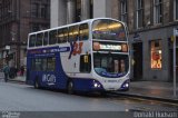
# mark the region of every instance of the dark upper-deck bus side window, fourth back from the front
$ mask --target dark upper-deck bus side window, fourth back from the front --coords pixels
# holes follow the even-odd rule
[[[51,30],[51,31],[49,32],[49,45],[55,45],[55,43],[57,43],[57,39],[58,39],[57,30]]]

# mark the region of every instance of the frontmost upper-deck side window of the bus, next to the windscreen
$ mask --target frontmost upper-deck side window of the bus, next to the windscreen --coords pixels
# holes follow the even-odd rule
[[[79,30],[80,30],[80,31],[79,31],[79,32],[80,32],[80,38],[79,38],[79,40],[88,40],[88,38],[89,38],[88,23],[80,24]]]

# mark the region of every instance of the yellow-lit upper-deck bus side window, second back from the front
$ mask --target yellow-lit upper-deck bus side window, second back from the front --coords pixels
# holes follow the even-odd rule
[[[79,27],[69,27],[69,42],[77,41],[79,39]]]

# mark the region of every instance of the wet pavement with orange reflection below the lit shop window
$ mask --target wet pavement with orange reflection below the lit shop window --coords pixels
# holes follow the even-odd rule
[[[161,81],[131,81],[129,91],[118,91],[117,94],[129,97],[177,102],[178,83],[177,97],[174,97],[174,83]]]

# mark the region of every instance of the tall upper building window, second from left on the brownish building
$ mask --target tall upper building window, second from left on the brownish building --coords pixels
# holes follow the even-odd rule
[[[144,26],[144,0],[137,0],[137,28]]]

